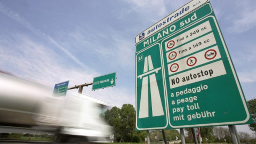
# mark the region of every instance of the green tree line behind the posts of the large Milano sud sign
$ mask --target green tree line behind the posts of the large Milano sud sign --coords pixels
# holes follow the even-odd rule
[[[254,135],[247,132],[238,132],[239,138],[242,143],[250,142],[256,143],[256,99],[247,101],[253,124],[250,124],[250,129],[254,131]],[[113,107],[100,115],[101,118],[113,126],[114,141],[117,142],[142,142],[147,137],[146,131],[135,131],[135,109],[131,104],[124,104],[122,108]],[[191,129],[186,130],[186,143],[194,143]],[[201,127],[201,138],[203,143],[232,143],[229,129],[226,127]],[[180,133],[177,130],[164,130],[167,141],[175,140],[176,137],[180,139]],[[162,131],[150,131],[150,141],[158,142],[163,141]],[[156,139],[157,138],[157,139]],[[207,140],[206,140],[207,139]]]

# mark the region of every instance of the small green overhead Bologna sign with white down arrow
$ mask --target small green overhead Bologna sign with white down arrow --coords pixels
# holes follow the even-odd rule
[[[99,77],[94,77],[93,83],[92,83],[92,90],[103,89],[105,87],[115,86],[115,85],[116,85],[116,72],[99,76]]]

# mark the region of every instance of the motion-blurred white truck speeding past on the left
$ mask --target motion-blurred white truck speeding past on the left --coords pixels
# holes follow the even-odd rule
[[[0,133],[55,133],[56,143],[111,141],[111,126],[99,117],[108,103],[71,91],[51,95],[45,86],[0,73]]]

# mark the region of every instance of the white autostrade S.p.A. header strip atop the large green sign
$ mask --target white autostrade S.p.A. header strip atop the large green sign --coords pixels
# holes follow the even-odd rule
[[[182,6],[180,9],[177,11],[171,13],[161,21],[158,21],[155,25],[151,26],[150,28],[146,29],[143,31],[141,34],[137,35],[135,38],[135,43],[139,43],[142,41],[142,39],[145,39],[149,37],[150,35],[156,33],[157,31],[161,30],[162,28],[170,25],[174,21],[177,21],[178,19],[184,17],[188,13],[194,11],[197,9],[197,7],[209,2],[209,0],[194,0],[186,5]]]

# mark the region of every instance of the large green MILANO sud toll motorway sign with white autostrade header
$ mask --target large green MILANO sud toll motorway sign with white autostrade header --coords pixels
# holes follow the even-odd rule
[[[136,113],[137,130],[252,123],[209,1],[136,37]]]

